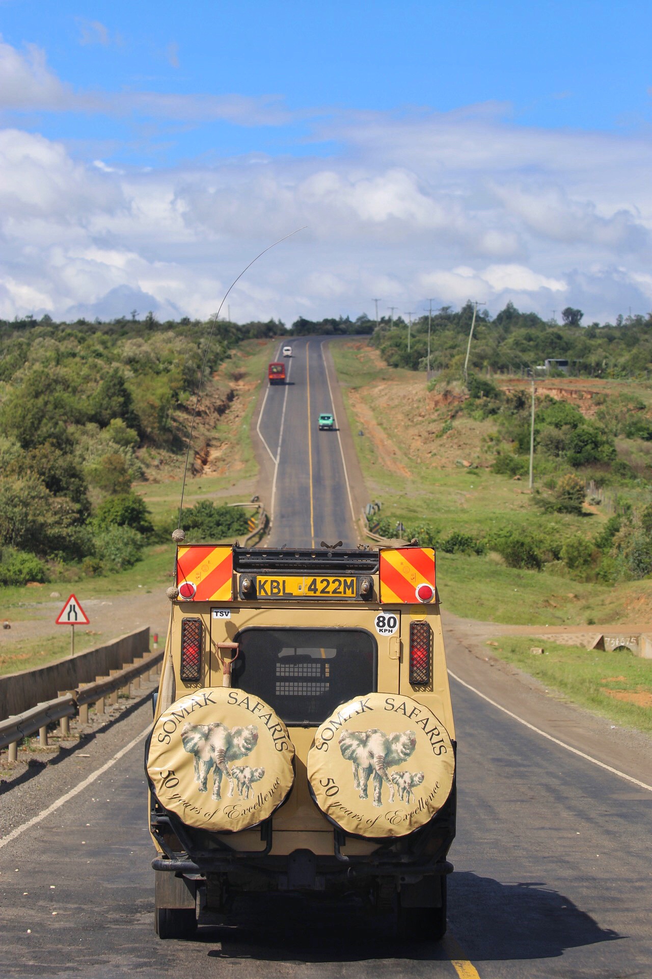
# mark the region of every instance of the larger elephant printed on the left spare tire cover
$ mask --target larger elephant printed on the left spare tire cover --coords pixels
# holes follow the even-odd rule
[[[181,740],[186,751],[195,755],[195,781],[199,792],[207,792],[208,774],[213,769],[213,793],[211,798],[220,799],[222,775],[229,780],[229,798],[234,794],[234,777],[229,762],[249,755],[258,743],[258,727],[233,727],[231,730],[219,721],[210,724],[185,723]]]

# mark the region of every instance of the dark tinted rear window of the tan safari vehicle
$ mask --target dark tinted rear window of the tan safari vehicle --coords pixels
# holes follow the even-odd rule
[[[244,629],[232,683],[286,724],[314,726],[376,689],[377,646],[364,629]]]

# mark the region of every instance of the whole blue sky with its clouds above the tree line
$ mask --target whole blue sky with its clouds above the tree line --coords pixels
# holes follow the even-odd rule
[[[208,314],[294,221],[239,318],[652,305],[649,3],[0,0],[0,32],[0,315]]]

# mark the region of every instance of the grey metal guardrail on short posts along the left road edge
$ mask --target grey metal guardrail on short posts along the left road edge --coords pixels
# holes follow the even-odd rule
[[[107,697],[113,696],[113,703],[116,703],[119,690],[128,690],[132,683],[140,686],[140,677],[158,667],[162,660],[163,650],[146,653],[122,670],[111,670],[111,676],[100,676],[93,683],[82,683],[77,689],[67,690],[54,700],[43,701],[22,714],[0,721],[0,748],[9,746],[9,760],[15,762],[18,744],[23,737],[38,731],[39,743],[47,745],[48,724],[61,721],[62,734],[67,734],[69,718],[78,714],[82,723],[88,722],[89,704],[95,704],[98,713],[104,714]]]

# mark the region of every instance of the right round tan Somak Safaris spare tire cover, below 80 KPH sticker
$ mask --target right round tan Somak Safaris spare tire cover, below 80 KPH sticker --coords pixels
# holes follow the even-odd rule
[[[453,787],[448,731],[411,697],[369,693],[318,728],[308,753],[311,793],[347,833],[405,836],[442,808]]]

